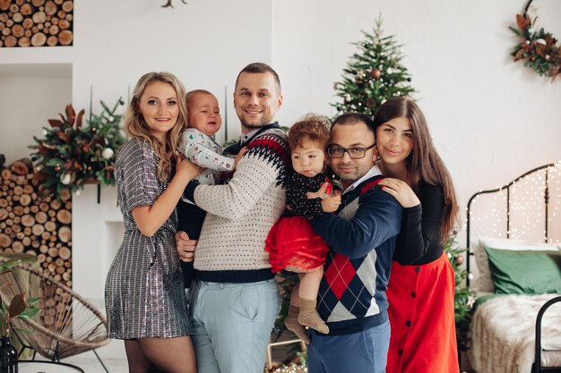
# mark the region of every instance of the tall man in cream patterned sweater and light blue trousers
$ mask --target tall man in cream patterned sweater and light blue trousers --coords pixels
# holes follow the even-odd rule
[[[280,309],[279,288],[264,242],[285,207],[286,135],[274,116],[279,77],[267,64],[237,76],[234,106],[242,138],[224,153],[246,154],[223,185],[187,185],[184,197],[207,211],[196,244],[191,315],[199,373],[262,373],[266,344]],[[177,233],[181,259],[192,259]]]

